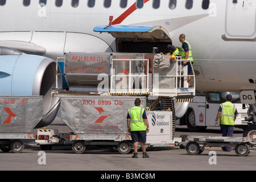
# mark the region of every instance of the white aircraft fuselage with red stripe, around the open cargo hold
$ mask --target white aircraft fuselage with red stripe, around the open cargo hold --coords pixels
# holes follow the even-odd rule
[[[162,26],[177,47],[184,33],[196,90],[255,90],[255,13],[253,0],[1,0],[0,46],[52,59],[72,51],[114,52],[115,38],[93,31],[114,16],[113,24]]]

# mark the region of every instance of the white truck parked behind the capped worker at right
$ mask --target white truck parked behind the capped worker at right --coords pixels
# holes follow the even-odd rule
[[[193,97],[193,102],[189,102],[188,110],[182,118],[176,121],[176,125],[187,125],[192,132],[201,132],[208,126],[215,126],[215,118],[220,104],[225,102],[227,94],[232,94],[232,103],[236,105],[238,111],[234,126],[245,129],[249,123],[245,121],[247,110],[240,102],[238,92],[205,92],[198,93]],[[220,121],[218,121],[219,126]]]

